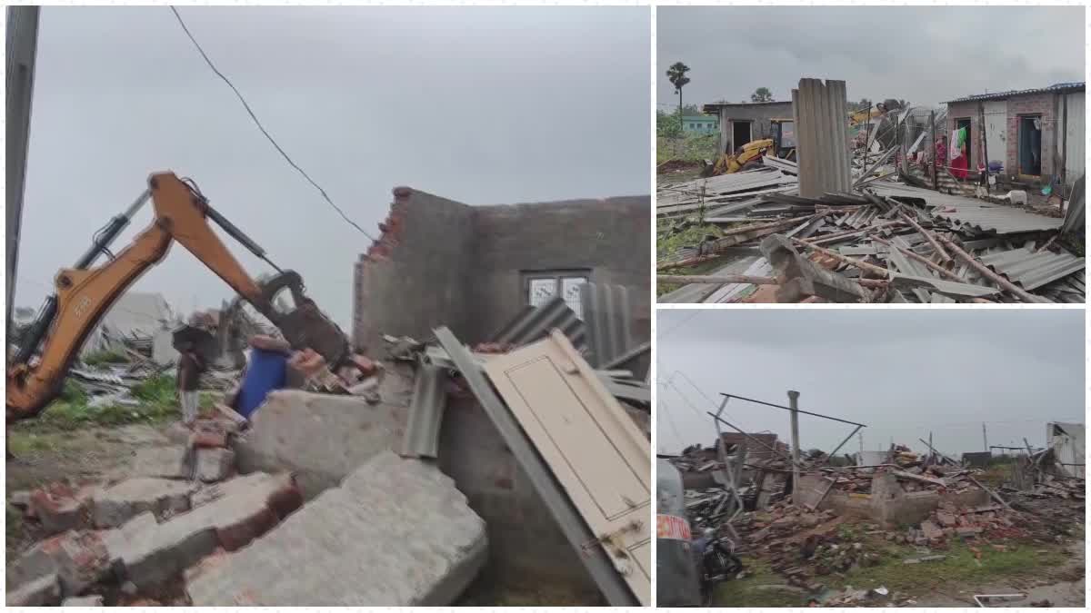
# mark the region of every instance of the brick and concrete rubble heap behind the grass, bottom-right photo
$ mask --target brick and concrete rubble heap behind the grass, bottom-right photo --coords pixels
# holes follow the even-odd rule
[[[694,533],[711,530],[712,538],[731,539],[736,553],[765,561],[824,606],[867,606],[876,604],[862,603],[876,597],[895,598],[860,590],[826,593],[822,578],[830,574],[884,562],[940,562],[960,541],[980,557],[985,546],[1004,552],[1008,542],[1054,542],[1082,526],[1083,480],[1058,476],[1044,450],[1021,456],[1023,472],[1040,466],[1023,490],[993,490],[981,482],[983,469],[906,445],[891,445],[877,464],[870,459],[865,466],[846,461],[851,456],[801,454],[799,483],[786,488],[792,464],[775,434],[731,434],[727,441],[732,442],[694,445],[669,459],[682,476]],[[920,553],[889,560],[884,542]]]

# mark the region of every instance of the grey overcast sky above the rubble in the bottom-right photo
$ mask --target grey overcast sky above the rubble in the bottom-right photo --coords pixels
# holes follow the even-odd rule
[[[787,406],[794,389],[801,409],[866,424],[868,450],[922,449],[930,431],[943,452],[983,450],[982,422],[990,445],[1041,446],[1047,421],[1083,422],[1083,310],[661,309],[656,325],[659,453],[716,441],[702,393]],[[733,398],[723,414],[790,441],[788,411]],[[800,446],[828,453],[851,430],[801,416]]]

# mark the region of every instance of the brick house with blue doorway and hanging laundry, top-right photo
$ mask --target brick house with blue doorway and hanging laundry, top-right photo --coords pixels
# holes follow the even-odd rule
[[[970,169],[1000,161],[1004,175],[1071,188],[1084,169],[1084,83],[979,94],[947,101],[947,133],[969,128]],[[981,141],[984,117],[985,141]]]

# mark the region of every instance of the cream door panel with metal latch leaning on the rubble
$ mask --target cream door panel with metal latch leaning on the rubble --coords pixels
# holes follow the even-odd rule
[[[484,370],[614,567],[637,600],[649,605],[648,440],[556,330],[490,359]]]

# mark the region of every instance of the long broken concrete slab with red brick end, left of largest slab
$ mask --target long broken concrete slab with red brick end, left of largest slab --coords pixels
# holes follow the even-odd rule
[[[218,546],[245,545],[302,502],[289,474],[247,474],[219,486],[220,496],[207,504],[132,530],[128,539],[111,538],[110,554],[124,577],[141,589],[155,587]]]

